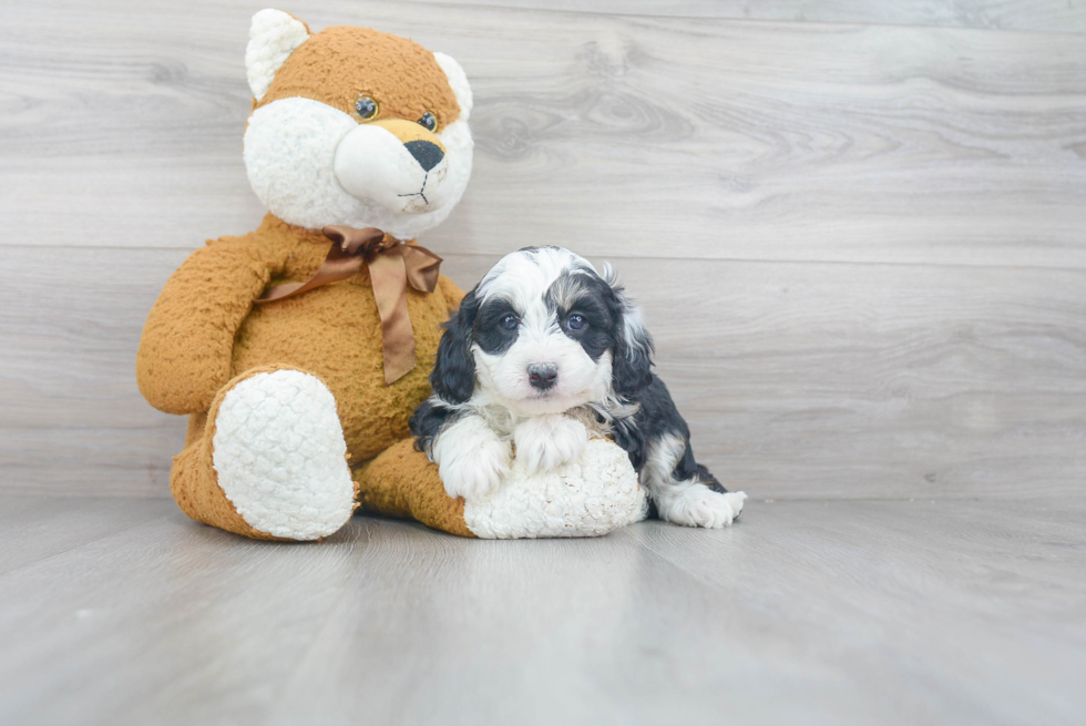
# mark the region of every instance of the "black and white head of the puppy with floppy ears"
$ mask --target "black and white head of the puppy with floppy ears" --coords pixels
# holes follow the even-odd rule
[[[482,393],[522,416],[637,393],[652,380],[652,338],[605,272],[559,247],[505,256],[447,326],[434,392],[453,403]]]

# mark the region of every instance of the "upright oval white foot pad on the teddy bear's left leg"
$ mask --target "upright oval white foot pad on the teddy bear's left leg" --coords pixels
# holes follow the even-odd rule
[[[215,419],[218,484],[255,530],[316,540],[355,508],[336,399],[297,370],[257,374],[226,393]]]

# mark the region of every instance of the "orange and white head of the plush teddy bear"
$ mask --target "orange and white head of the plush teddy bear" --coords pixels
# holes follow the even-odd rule
[[[311,33],[253,17],[245,167],[280,219],[379,227],[407,239],[441,223],[471,176],[471,86],[459,63],[367,28]]]

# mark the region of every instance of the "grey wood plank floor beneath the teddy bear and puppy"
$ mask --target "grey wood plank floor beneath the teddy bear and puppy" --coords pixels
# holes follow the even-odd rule
[[[0,498],[4,724],[1080,724],[1086,498],[250,542]],[[58,538],[61,533],[61,538]]]

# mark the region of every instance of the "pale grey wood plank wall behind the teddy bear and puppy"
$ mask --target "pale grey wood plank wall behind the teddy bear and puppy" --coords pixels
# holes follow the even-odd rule
[[[1086,7],[760,6],[283,9],[461,61],[474,176],[423,244],[465,287],[524,245],[612,260],[729,487],[1079,489]],[[167,495],[184,421],[140,397],[135,347],[185,256],[262,216],[240,156],[262,7],[0,9],[0,489]]]

